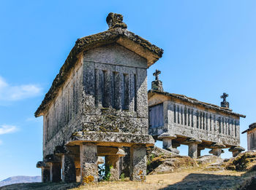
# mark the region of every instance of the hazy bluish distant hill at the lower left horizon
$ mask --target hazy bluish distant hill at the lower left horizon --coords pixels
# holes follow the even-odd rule
[[[0,186],[7,186],[13,183],[33,183],[33,182],[41,182],[42,178],[41,176],[13,176],[10,178],[7,178],[3,181],[0,181]]]

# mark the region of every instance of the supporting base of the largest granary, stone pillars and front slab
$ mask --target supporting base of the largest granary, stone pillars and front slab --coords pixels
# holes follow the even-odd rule
[[[124,146],[129,147],[129,177],[132,181],[146,181],[146,147],[153,146],[151,135],[120,132],[74,132],[65,146],[56,146],[54,154],[37,162],[42,168],[43,182],[66,183],[98,181],[99,157],[105,157],[110,180],[121,175],[120,157],[125,156]],[[62,178],[61,178],[62,175]]]

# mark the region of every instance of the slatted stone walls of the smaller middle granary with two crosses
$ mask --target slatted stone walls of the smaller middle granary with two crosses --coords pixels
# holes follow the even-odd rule
[[[154,96],[152,99],[157,99],[156,97]],[[155,104],[153,103],[157,103],[157,100],[150,100],[149,106],[152,107],[149,107],[149,110],[154,111]],[[221,142],[227,146],[239,145],[240,126],[238,116],[172,100],[165,100],[162,104],[163,124],[162,126],[154,126],[154,123],[158,124],[159,122],[152,122],[150,118],[149,134],[157,136],[167,132],[186,138]],[[157,106],[155,107],[157,108]],[[152,114],[150,113],[150,115]],[[160,116],[157,116],[157,119],[160,118]]]

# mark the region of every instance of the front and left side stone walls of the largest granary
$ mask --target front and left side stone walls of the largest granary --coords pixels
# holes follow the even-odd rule
[[[44,157],[77,131],[148,134],[147,60],[118,44],[82,57],[44,115]]]

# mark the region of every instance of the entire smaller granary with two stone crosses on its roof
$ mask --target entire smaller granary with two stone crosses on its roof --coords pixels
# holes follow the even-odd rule
[[[227,94],[223,93],[221,107],[204,103],[185,95],[163,92],[162,82],[156,71],[152,90],[148,91],[148,132],[163,141],[163,149],[178,154],[181,144],[189,146],[189,157],[200,157],[200,151],[208,148],[210,153],[220,156],[224,148],[230,148],[235,157],[244,151],[240,144],[239,119],[229,108]]]

